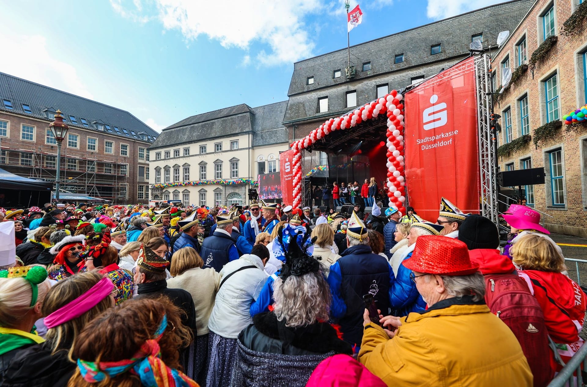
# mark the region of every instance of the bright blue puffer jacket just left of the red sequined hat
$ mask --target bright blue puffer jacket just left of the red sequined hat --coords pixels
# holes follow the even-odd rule
[[[411,252],[405,260],[411,258]],[[418,292],[416,284],[410,279],[411,270],[400,264],[397,269],[396,281],[389,288],[389,300],[392,310],[396,309],[398,317],[407,316],[410,312],[421,313],[426,310],[426,302]]]

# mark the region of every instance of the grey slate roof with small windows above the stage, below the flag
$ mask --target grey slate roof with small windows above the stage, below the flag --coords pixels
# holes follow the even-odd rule
[[[533,2],[514,0],[487,6],[351,46],[350,59],[356,67],[356,76],[350,81],[345,77],[346,48],[296,62],[284,122],[319,117],[316,112],[318,97],[321,96],[328,96],[329,114],[326,116],[332,117],[338,112],[350,110],[344,106],[345,91],[357,90],[357,104],[360,105],[375,99],[378,84],[389,82],[389,90],[402,89],[410,85],[411,77],[434,75],[468,55],[473,35],[483,33],[484,45],[495,45],[498,33],[512,31]],[[431,55],[431,46],[437,44],[441,45],[441,52]],[[404,62],[395,64],[395,55],[402,53]],[[370,62],[370,70],[363,72],[365,62]],[[338,69],[342,71],[342,76],[333,79],[333,71]],[[313,76],[314,83],[306,85],[310,76]],[[363,87],[365,85],[369,85],[369,90]],[[369,97],[363,100],[363,95]]]

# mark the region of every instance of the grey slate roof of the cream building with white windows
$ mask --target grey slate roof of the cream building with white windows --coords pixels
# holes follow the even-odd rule
[[[287,101],[250,107],[245,103],[187,117],[159,134],[150,149],[254,132],[253,146],[288,142],[281,124]]]

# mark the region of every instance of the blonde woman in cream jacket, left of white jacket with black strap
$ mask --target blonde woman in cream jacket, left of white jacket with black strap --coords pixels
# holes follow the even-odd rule
[[[220,274],[214,268],[202,268],[204,261],[197,251],[191,247],[184,247],[173,253],[171,257],[171,275],[167,280],[170,288],[179,288],[188,291],[194,300],[195,324],[198,336],[195,341],[195,354],[193,356],[195,380],[200,385],[205,385],[206,362],[208,359],[208,318],[214,299],[220,286]]]

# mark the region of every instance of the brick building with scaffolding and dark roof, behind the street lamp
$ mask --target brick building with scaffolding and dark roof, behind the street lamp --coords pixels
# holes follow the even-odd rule
[[[149,153],[158,133],[125,110],[0,73],[0,167],[55,180],[57,146],[49,123],[69,125],[61,148],[61,189],[137,203],[149,198]]]

